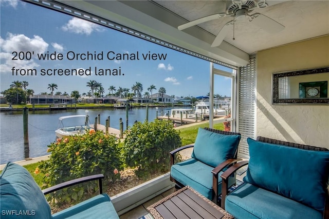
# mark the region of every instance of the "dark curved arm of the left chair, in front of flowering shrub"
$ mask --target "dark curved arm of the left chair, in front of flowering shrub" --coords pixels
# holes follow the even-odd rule
[[[103,193],[103,188],[102,188],[102,179],[104,178],[103,174],[96,174],[96,175],[90,175],[90,176],[85,176],[85,177],[81,177],[81,178],[77,178],[75,180],[70,180],[58,185],[54,185],[51,186],[47,189],[42,190],[43,194],[49,194],[51,192],[60,190],[60,189],[64,189],[67,188],[69,186],[74,186],[80,183],[85,183],[85,182],[89,182],[89,181],[93,181],[93,180],[98,180],[98,186],[99,186],[99,194]]]

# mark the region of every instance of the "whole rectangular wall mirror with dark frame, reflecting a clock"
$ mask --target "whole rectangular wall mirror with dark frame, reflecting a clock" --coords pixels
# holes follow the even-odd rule
[[[329,67],[274,73],[273,104],[328,104]]]

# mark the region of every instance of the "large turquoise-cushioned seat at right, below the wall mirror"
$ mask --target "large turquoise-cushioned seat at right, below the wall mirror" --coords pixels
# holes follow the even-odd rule
[[[222,208],[235,218],[329,218],[329,151],[261,137],[247,139],[249,161],[225,171]],[[244,183],[228,194],[228,177],[248,165]]]

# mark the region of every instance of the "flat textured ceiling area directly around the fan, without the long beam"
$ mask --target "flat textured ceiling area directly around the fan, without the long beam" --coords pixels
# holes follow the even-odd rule
[[[179,14],[188,21],[207,15],[225,12],[226,2],[231,1],[155,1],[159,5]],[[301,41],[329,33],[329,1],[266,1],[267,8],[256,8],[253,13],[262,13],[279,22],[285,29],[270,34],[246,20],[235,23],[224,38],[227,43],[252,54],[279,45]],[[202,29],[217,35],[218,31],[231,21],[226,16],[198,25]]]

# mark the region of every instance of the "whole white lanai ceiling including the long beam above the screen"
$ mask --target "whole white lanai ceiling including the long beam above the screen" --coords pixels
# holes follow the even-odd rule
[[[236,0],[235,0],[236,1]],[[263,0],[264,1],[264,0]],[[118,24],[157,37],[173,45],[235,65],[247,64],[257,51],[329,34],[329,1],[273,1],[262,13],[285,29],[269,34],[248,21],[237,21],[218,47],[211,47],[215,36],[232,17],[226,16],[179,31],[177,27],[194,19],[223,13],[231,1],[61,1]],[[258,1],[255,1],[258,2]],[[328,48],[325,48],[328,49]]]

